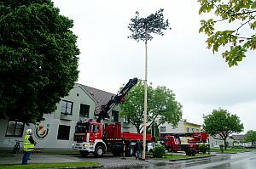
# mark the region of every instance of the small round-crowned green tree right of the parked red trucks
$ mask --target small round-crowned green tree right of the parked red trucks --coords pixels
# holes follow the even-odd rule
[[[219,108],[212,110],[212,114],[204,116],[204,130],[212,137],[219,134],[224,140],[224,149],[226,149],[226,138],[233,132],[241,132],[243,124],[237,115],[230,115],[228,110]]]

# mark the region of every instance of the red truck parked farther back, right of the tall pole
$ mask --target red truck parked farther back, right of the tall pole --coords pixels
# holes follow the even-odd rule
[[[199,153],[199,145],[206,144],[208,137],[209,135],[206,132],[160,134],[160,138],[164,140],[165,147],[168,151],[185,151],[186,155],[189,154],[189,150]],[[181,138],[183,138],[183,140],[181,140]]]

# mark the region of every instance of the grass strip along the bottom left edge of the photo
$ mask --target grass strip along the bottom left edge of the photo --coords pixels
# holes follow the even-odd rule
[[[54,164],[28,164],[28,165],[9,165],[9,166],[0,166],[1,169],[39,169],[39,168],[65,168],[65,167],[74,167],[74,166],[98,166],[99,163],[96,162],[71,162],[71,163],[54,163]]]

